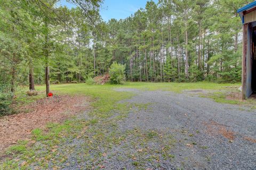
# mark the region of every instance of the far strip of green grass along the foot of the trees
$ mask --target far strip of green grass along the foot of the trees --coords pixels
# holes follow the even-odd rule
[[[201,97],[209,97],[219,103],[227,104],[250,104],[252,100],[246,100],[241,103],[240,92],[238,88],[240,83],[212,83],[212,82],[195,82],[195,83],[147,83],[147,82],[126,82],[123,85],[87,85],[85,83],[79,84],[59,84],[51,86],[52,91],[57,94],[71,94],[71,95],[89,95],[91,97],[107,98],[115,96],[119,92],[113,91],[114,88],[135,88],[140,90],[163,90],[181,93],[183,90],[205,90],[206,93],[198,94]],[[44,90],[44,86],[38,86],[37,90]],[[231,98],[226,99],[231,95]],[[123,95],[122,95],[123,96]],[[117,95],[117,101],[120,99]],[[107,100],[108,101],[108,100]]]

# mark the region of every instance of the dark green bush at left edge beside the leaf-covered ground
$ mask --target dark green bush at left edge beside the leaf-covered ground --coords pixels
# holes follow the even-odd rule
[[[0,91],[0,116],[11,113],[13,95],[12,93],[6,93]]]

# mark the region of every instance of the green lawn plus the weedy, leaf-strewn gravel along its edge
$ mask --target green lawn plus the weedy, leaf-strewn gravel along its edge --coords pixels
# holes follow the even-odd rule
[[[63,169],[65,167],[71,169],[108,169],[111,164],[106,159],[115,157],[120,162],[126,161],[122,154],[119,157],[116,156],[113,148],[122,146],[128,138],[131,138],[131,141],[134,140],[134,142],[126,143],[126,145],[136,148],[136,153],[125,153],[125,159],[130,159],[130,162],[126,162],[129,166],[125,164],[124,167],[145,169],[145,167],[150,167],[151,165],[148,162],[152,162],[151,166],[155,168],[157,164],[161,166],[160,163],[166,160],[171,164],[171,160],[177,157],[175,154],[178,154],[172,152],[172,146],[178,141],[170,133],[160,134],[155,130],[144,131],[136,128],[125,131],[119,130],[120,123],[129,116],[130,112],[145,111],[149,113],[148,107],[152,104],[131,103],[127,100],[136,96],[137,90],[159,90],[169,91],[171,92],[170,95],[184,94],[189,97],[211,98],[212,103],[236,105],[241,109],[244,109],[245,106],[248,110],[253,111],[255,99],[241,100],[239,98],[240,92],[238,91],[240,86],[241,84],[238,83],[219,84],[211,82],[126,82],[123,85],[87,85],[86,83],[51,85],[51,91],[55,96],[90,97],[91,108],[86,112],[69,117],[62,123],[49,122],[44,128],[36,128],[31,131],[31,139],[20,140],[3,152],[0,169]],[[44,86],[36,86],[36,90],[42,91],[39,97],[33,98],[19,94],[18,100],[31,102],[38,98],[44,98],[44,89]],[[199,131],[195,133],[199,133]],[[191,133],[189,137],[193,137],[193,135]],[[143,143],[152,142],[158,138],[164,139],[161,143],[162,150],[153,151],[150,150],[150,147],[143,147]],[[137,139],[140,141],[139,144],[136,142]],[[137,144],[140,146],[137,146]],[[196,144],[194,143],[194,145]],[[206,149],[206,146],[202,147]],[[153,154],[153,152],[156,152],[156,154]],[[70,155],[73,155],[73,157],[70,157]],[[206,157],[206,159],[210,158]],[[107,166],[106,164],[109,165]],[[182,166],[182,163],[180,163],[179,166],[175,167],[182,169]],[[184,165],[184,167],[186,166]]]

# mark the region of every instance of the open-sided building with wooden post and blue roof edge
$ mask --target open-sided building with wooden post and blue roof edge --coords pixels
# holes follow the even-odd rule
[[[242,98],[256,90],[256,1],[237,11],[243,23]]]

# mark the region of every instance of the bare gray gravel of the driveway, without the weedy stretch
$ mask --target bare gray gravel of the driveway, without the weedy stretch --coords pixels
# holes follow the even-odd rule
[[[156,130],[170,133],[179,141],[172,150],[175,159],[160,169],[256,169],[255,112],[173,92],[117,90],[137,94],[122,102],[151,103],[146,111],[130,112],[119,123],[121,131]],[[187,145],[191,142],[195,145]],[[121,148],[115,150],[123,152]]]

